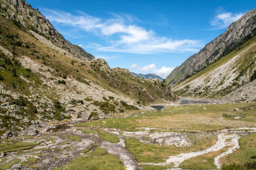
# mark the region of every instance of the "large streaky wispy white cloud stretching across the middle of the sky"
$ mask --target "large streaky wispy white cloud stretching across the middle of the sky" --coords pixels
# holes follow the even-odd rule
[[[80,28],[88,34],[105,38],[108,45],[89,46],[99,51],[152,54],[157,52],[196,52],[203,44],[198,40],[159,37],[155,31],[138,26],[139,19],[129,14],[112,14],[102,19],[78,11],[76,15],[65,11],[44,9],[51,22]]]

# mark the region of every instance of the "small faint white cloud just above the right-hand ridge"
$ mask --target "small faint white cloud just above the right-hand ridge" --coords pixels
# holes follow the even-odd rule
[[[211,25],[215,26],[215,30],[223,29],[228,27],[231,23],[237,21],[242,16],[243,13],[233,14],[222,12],[215,16],[215,18],[211,21]]]

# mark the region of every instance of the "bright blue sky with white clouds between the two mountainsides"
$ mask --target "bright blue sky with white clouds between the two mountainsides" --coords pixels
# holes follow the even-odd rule
[[[111,68],[163,78],[256,1],[27,0],[68,41]]]

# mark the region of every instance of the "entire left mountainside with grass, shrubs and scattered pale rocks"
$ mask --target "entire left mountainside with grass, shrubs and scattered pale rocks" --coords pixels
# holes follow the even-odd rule
[[[108,117],[177,99],[163,82],[94,59],[25,1],[0,5],[0,135],[36,135],[47,122]]]

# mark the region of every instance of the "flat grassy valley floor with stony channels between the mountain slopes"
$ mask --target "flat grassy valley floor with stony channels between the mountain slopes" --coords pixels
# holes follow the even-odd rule
[[[48,124],[40,136],[2,139],[0,169],[219,169],[255,161],[255,117],[256,103],[175,104]]]

